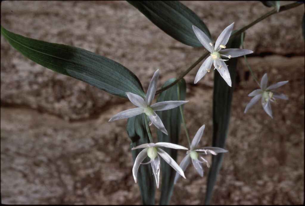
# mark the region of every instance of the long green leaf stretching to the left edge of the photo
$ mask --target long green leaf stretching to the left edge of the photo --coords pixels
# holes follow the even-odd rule
[[[28,59],[110,94],[127,98],[126,92],[145,97],[139,79],[123,65],[84,49],[27,38],[7,31],[1,34]]]

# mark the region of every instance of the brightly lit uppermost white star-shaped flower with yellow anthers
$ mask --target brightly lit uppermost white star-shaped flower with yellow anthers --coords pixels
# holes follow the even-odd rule
[[[248,49],[225,49],[226,48],[225,45],[229,41],[233,29],[233,25],[234,22],[231,25],[229,25],[227,28],[225,28],[224,31],[221,32],[221,34],[216,40],[215,47],[213,46],[213,43],[210,41],[210,38],[198,27],[193,25],[193,31],[195,32],[198,40],[209,52],[211,52],[211,55],[208,58],[206,58],[206,60],[199,68],[197,75],[195,77],[195,81],[194,81],[195,84],[201,78],[203,78],[206,72],[210,72],[212,64],[214,64],[215,67],[214,69],[217,69],[217,71],[222,76],[222,78],[224,78],[224,81],[226,81],[227,84],[231,87],[232,82],[231,82],[230,73],[226,63],[224,63],[224,61],[228,61],[228,60],[224,60],[221,57],[227,57],[231,59],[232,57],[238,57],[253,53],[253,51]]]

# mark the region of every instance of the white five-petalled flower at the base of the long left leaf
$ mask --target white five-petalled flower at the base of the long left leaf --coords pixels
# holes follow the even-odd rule
[[[152,100],[156,94],[158,78],[159,70],[156,70],[155,74],[152,76],[152,80],[149,83],[145,100],[137,94],[126,92],[128,99],[131,101],[131,103],[138,106],[138,108],[121,111],[111,117],[109,121],[129,118],[145,113],[151,121],[150,125],[154,124],[158,129],[161,130],[161,132],[168,135],[160,117],[155,111],[170,110],[179,107],[181,104],[187,103],[188,101],[164,101],[152,104]]]

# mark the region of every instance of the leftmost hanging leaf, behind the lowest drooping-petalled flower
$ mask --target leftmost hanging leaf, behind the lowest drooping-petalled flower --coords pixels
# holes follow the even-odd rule
[[[135,146],[149,143],[149,138],[146,133],[144,113],[135,117],[130,117],[127,120],[126,130],[129,138],[131,139],[130,148]],[[131,150],[133,161],[142,151],[142,149]],[[146,157],[144,162],[150,161],[149,157]],[[143,204],[155,204],[155,190],[156,183],[154,175],[152,175],[152,167],[150,164],[140,165],[138,170],[138,185]]]

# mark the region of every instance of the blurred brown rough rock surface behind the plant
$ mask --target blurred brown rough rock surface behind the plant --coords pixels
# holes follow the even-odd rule
[[[169,37],[124,1],[1,3],[1,25],[7,30],[106,56],[134,72],[145,91],[157,69],[160,88],[204,52]],[[232,22],[237,29],[271,10],[261,2],[183,3],[206,23],[214,40]],[[278,89],[289,100],[272,104],[273,119],[259,103],[244,114],[247,94],[257,85],[239,58],[229,152],[210,204],[304,202],[303,14],[301,5],[247,30],[245,48],[254,51],[248,61],[255,75],[260,80],[268,73],[269,85],[289,80]],[[213,72],[194,85],[200,64],[185,77],[190,101],[185,119],[191,137],[206,125],[200,145],[211,146]],[[127,99],[31,62],[1,35],[2,203],[142,204],[132,176],[127,120],[108,122],[128,108],[133,105]],[[180,139],[188,145],[183,128]],[[178,163],[184,155],[178,153]],[[170,204],[203,204],[207,175],[201,178],[192,167],[185,175]],[[156,204],[159,197],[156,190]]]

